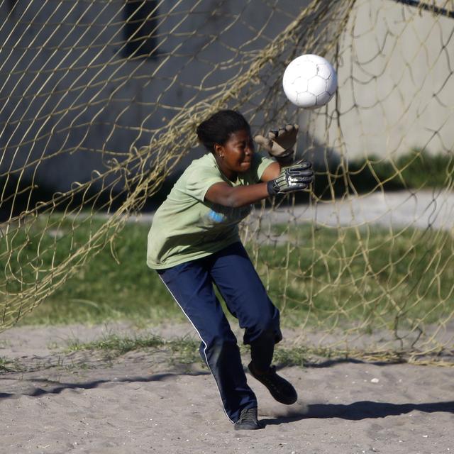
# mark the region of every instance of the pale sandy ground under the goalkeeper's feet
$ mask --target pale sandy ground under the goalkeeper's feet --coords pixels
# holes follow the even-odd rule
[[[194,336],[189,323],[145,332]],[[63,352],[74,339],[106,333],[138,331],[57,326],[0,334],[0,358],[21,365],[0,373],[2,453],[454,453],[454,367],[355,360],[287,367],[281,373],[299,392],[292,406],[248,376],[266,427],[234,431],[200,364],[176,362],[165,349],[111,361],[99,351]]]

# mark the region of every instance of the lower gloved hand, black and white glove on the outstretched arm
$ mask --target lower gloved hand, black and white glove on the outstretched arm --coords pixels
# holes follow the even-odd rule
[[[268,194],[285,194],[286,192],[302,191],[314,182],[314,170],[311,162],[302,161],[299,164],[285,167],[277,178],[267,182]]]

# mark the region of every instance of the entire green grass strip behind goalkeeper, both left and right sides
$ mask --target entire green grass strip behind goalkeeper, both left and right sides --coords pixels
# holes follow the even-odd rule
[[[52,262],[65,260],[104,223],[92,219],[73,231],[72,221],[55,216],[52,228],[62,234],[55,238],[45,230],[47,222],[38,219],[29,231],[22,228],[0,243],[0,254],[5,254],[6,244],[12,251],[13,275],[31,285],[40,277],[36,267],[45,275]],[[114,241],[118,263],[107,245],[20,323],[128,320],[146,326],[185,321],[157,274],[145,264],[147,233],[148,225],[126,224]],[[454,240],[449,232],[304,225],[275,226],[275,234],[285,234],[289,243],[248,248],[251,257],[258,253],[258,272],[282,310],[284,325],[309,321],[327,327],[345,322],[372,330],[391,326],[396,318],[416,324],[438,322],[454,310]],[[38,245],[40,256],[35,258]],[[28,264],[23,265],[26,258]],[[0,286],[9,291],[20,288],[14,279]]]

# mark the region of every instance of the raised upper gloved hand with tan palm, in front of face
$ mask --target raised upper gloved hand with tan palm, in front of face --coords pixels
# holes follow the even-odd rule
[[[254,140],[261,145],[280,165],[290,165],[294,161],[294,145],[297,142],[298,125],[272,129],[268,138],[256,135]]]

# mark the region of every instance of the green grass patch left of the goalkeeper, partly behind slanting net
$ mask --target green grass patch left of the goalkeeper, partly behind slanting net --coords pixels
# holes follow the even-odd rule
[[[15,238],[11,238],[10,244],[10,249],[14,251],[10,261],[14,274],[33,282],[35,266],[40,266],[45,274],[52,262],[57,264],[65,260],[71,251],[84,245],[87,238],[103,223],[101,219],[92,219],[90,223],[84,223],[72,231],[72,221],[59,221],[53,228],[58,228],[64,236],[57,239],[49,233],[41,238],[40,231],[45,227],[44,219],[33,224],[28,238],[25,237],[24,229],[21,229]],[[129,319],[140,326],[149,321],[170,318],[184,320],[184,315],[157,274],[145,264],[147,233],[148,226],[126,225],[114,242],[119,263],[114,260],[109,245],[106,245],[20,323],[102,323]],[[24,243],[25,246],[20,248]],[[33,259],[38,243],[39,260]],[[3,253],[4,241],[0,243],[0,248],[0,253]],[[52,255],[54,249],[55,257]],[[18,260],[26,262],[26,258],[28,264],[19,267]],[[13,279],[3,285],[10,292],[20,288]]]

